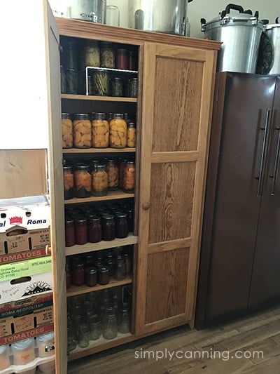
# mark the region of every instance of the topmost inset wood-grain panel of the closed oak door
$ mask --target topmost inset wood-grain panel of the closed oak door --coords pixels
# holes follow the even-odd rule
[[[203,62],[156,58],[153,152],[197,150]]]

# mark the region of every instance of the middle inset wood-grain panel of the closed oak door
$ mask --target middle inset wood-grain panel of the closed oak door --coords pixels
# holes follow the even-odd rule
[[[190,236],[195,162],[154,163],[148,243]]]

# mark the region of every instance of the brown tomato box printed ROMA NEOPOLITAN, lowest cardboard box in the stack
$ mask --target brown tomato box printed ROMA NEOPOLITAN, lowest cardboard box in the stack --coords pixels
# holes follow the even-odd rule
[[[52,330],[52,293],[0,305],[0,345]]]

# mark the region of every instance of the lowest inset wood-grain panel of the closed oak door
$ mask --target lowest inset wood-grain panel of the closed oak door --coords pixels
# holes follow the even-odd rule
[[[146,323],[185,313],[188,256],[189,248],[148,255]]]

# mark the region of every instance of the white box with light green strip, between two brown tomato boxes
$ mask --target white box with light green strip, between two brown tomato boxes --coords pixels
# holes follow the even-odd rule
[[[29,298],[51,290],[51,256],[0,265],[0,303]]]

